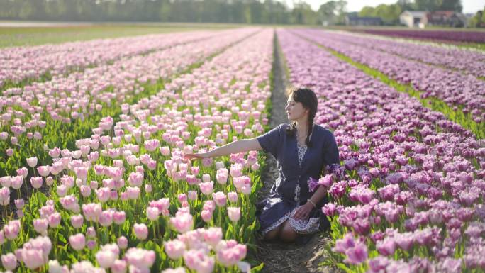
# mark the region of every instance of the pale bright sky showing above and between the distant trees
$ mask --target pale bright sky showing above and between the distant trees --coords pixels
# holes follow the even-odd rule
[[[298,0],[280,0],[285,2],[288,6],[293,6],[293,2]],[[321,4],[327,0],[305,0],[306,3],[311,4],[312,9],[318,10]],[[360,11],[363,6],[377,6],[379,4],[394,4],[397,0],[347,0],[347,11]],[[476,13],[480,9],[484,9],[485,0],[462,0],[463,13]]]

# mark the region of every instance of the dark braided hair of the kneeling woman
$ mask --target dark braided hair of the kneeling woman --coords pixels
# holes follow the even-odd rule
[[[289,97],[291,96],[291,99],[294,99],[294,101],[301,102],[301,104],[303,104],[303,108],[308,110],[308,133],[306,134],[305,143],[308,147],[311,147],[310,134],[313,129],[313,120],[315,119],[318,106],[316,94],[308,88],[294,87],[289,88],[286,93]],[[291,122],[290,126],[286,128],[286,135],[296,137],[296,121]]]

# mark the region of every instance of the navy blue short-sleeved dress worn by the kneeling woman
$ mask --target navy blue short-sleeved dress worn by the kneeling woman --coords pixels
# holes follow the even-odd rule
[[[300,166],[296,135],[287,135],[288,127],[288,123],[281,123],[257,137],[264,152],[269,152],[277,159],[278,167],[278,178],[269,191],[269,196],[257,204],[257,216],[263,234],[290,218],[296,207],[306,204],[307,199],[313,195],[308,189],[310,177],[318,179],[325,166],[340,162],[333,133],[322,126],[314,125],[311,144],[308,145]],[[325,196],[316,204],[316,208],[310,213],[308,225],[310,221],[314,221],[319,230],[328,228],[330,223],[321,211],[321,207],[327,202]]]

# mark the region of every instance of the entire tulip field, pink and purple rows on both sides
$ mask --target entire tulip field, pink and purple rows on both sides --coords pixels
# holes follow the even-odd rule
[[[264,270],[264,153],[184,154],[271,129],[277,47],[339,146],[319,266],[485,272],[485,53],[250,27],[0,49],[0,272]]]

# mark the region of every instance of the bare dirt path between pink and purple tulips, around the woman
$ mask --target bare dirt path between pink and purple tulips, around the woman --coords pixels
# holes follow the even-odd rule
[[[274,40],[274,62],[273,80],[274,89],[271,96],[272,111],[269,118],[271,128],[280,123],[287,122],[285,83],[288,82],[284,72],[282,53],[277,45],[277,38]],[[267,155],[267,167],[263,170],[262,180],[264,186],[261,189],[260,199],[264,199],[269,193],[274,180],[278,177],[277,162],[272,155]],[[285,244],[276,242],[257,241],[257,259],[264,262],[262,272],[274,273],[316,273],[335,272],[331,267],[321,267],[318,264],[325,260],[324,245],[328,243],[328,233],[318,233],[304,245]]]

